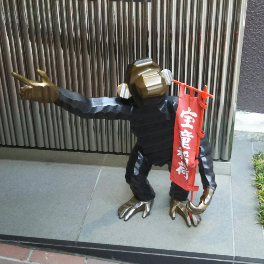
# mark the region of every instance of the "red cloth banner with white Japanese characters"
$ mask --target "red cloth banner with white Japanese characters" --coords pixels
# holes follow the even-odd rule
[[[194,90],[190,88],[190,95],[184,94],[185,84],[180,85],[179,102],[176,112],[173,156],[170,179],[183,189],[197,191],[194,186],[196,165],[195,159],[197,144],[204,134],[199,132],[202,101],[194,97]]]

